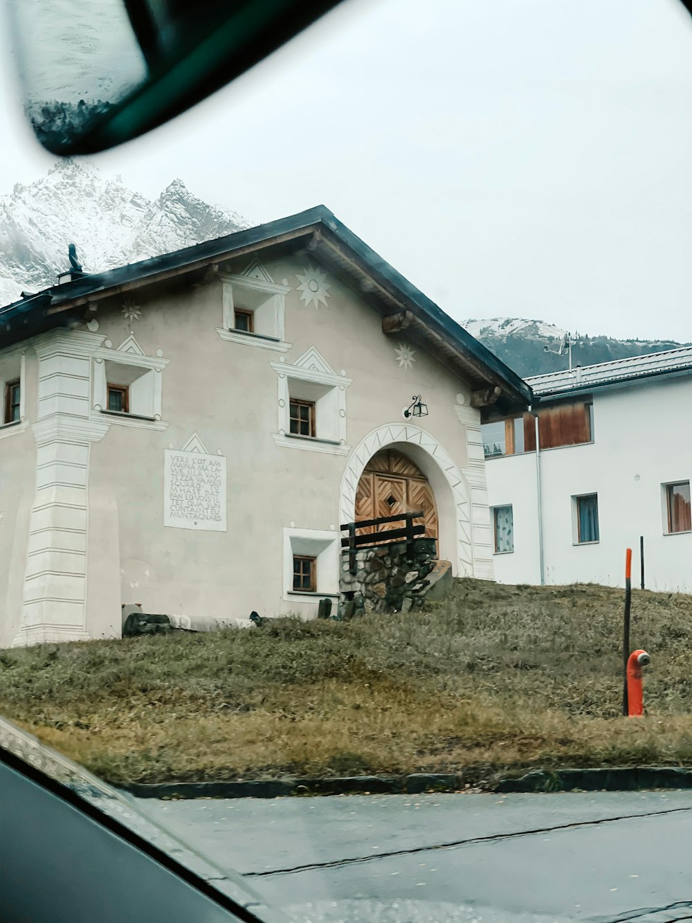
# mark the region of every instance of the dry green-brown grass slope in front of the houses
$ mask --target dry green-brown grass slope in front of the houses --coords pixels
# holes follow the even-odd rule
[[[113,782],[692,761],[692,596],[635,593],[648,716],[618,716],[622,596],[458,581],[351,623],[0,652],[0,713]]]

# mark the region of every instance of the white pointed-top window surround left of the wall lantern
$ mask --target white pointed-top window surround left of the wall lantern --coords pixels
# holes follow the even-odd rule
[[[343,369],[337,375],[314,346],[300,356],[292,366],[284,360],[272,362],[270,366],[278,377],[277,432],[271,434],[274,442],[285,449],[348,455],[351,446],[346,444],[346,389],[352,384],[353,379],[348,378]],[[306,386],[306,390],[300,391],[301,383]],[[293,391],[292,386],[294,386]],[[314,397],[311,397],[311,394]],[[316,436],[298,436],[291,432],[292,397],[300,400],[316,398]],[[319,406],[320,402],[323,404],[322,407]],[[320,414],[322,414],[322,426],[320,426]],[[327,427],[325,427],[324,414],[329,414]],[[325,428],[329,433],[329,438],[319,435],[320,430],[325,432]]]

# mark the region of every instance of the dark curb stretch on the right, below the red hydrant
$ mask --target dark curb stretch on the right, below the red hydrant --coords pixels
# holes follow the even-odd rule
[[[632,792],[643,788],[692,788],[692,769],[683,766],[614,766],[610,769],[531,770],[505,778],[495,792]]]

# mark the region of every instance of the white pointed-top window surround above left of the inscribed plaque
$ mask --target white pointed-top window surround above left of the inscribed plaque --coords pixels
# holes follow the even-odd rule
[[[169,362],[169,359],[164,359],[161,356],[145,354],[132,335],[130,335],[125,342],[121,343],[117,349],[105,345],[100,346],[94,352],[92,364],[90,418],[100,419],[102,421],[103,417],[107,417],[109,423],[116,424],[117,426],[136,426],[141,429],[156,430],[166,429],[169,425],[162,419],[162,373]],[[148,373],[151,374],[153,377],[151,380],[152,414],[137,414],[132,411],[129,413],[118,413],[117,411],[108,410],[108,385],[118,384],[118,382],[108,380],[106,363],[117,363],[121,366],[128,366],[131,369],[144,370],[143,374],[137,376],[137,378],[143,378],[144,375]],[[129,388],[130,406],[132,406],[132,387],[131,385],[127,387]]]

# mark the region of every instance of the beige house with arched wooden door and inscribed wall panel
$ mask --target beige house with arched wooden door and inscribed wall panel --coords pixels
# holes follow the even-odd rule
[[[492,579],[480,408],[531,399],[324,207],[27,294],[0,385],[0,647],[316,616],[340,525],[413,509]]]

